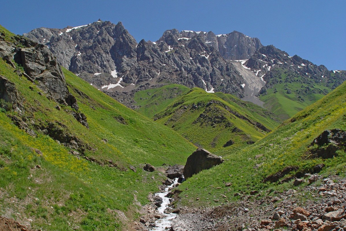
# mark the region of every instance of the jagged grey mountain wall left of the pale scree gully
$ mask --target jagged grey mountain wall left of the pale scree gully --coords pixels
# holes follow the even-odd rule
[[[216,36],[176,29],[165,31],[156,42],[137,44],[121,22],[100,20],[75,28],[38,28],[25,36],[45,44],[63,66],[98,89],[128,92],[169,81],[241,98],[245,80],[224,58],[233,53],[236,59],[246,58],[262,46],[236,31]]]

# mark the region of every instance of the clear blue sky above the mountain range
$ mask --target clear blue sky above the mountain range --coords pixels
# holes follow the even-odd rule
[[[346,70],[346,1],[339,0],[6,0],[0,24],[22,34],[37,27],[64,28],[97,21],[117,23],[140,41],[167,29],[240,31],[328,69]]]

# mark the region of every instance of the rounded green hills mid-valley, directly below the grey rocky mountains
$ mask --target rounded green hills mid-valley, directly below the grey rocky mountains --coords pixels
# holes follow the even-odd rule
[[[200,88],[168,85],[138,92],[136,98],[143,105],[140,112],[155,114],[157,122],[220,155],[252,144],[279,125],[279,119],[266,109],[230,94],[207,93]]]

